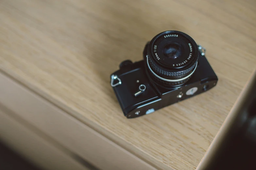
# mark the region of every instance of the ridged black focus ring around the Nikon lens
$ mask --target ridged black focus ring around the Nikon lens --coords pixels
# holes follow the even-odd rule
[[[182,76],[182,75],[184,75],[184,74],[187,74],[187,73],[191,72],[191,70],[194,69],[195,66],[196,66],[196,63],[195,63],[192,67],[188,68],[187,70],[178,71],[178,72],[168,72],[168,71],[162,70],[161,68],[158,68],[158,67],[150,60],[150,58],[149,58],[149,64],[150,64],[150,66],[151,66],[156,72],[158,72],[158,73],[160,73],[160,74],[162,74],[162,75],[165,75],[165,76],[169,76],[169,77],[178,77],[178,76]]]

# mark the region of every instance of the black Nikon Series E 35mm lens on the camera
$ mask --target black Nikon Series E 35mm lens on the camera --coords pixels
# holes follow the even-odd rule
[[[198,59],[196,42],[179,31],[165,31],[149,43],[147,64],[151,76],[167,86],[180,86],[194,73]]]

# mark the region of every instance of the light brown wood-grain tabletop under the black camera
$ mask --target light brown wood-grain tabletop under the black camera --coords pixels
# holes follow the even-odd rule
[[[256,64],[255,0],[1,0],[0,70],[158,169],[195,169]],[[212,90],[136,119],[110,74],[166,30],[207,49]]]

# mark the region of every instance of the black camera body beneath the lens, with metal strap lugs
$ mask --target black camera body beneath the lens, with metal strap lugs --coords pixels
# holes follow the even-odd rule
[[[189,79],[184,84],[168,86],[167,83],[165,85],[156,81],[148,61],[148,46],[150,43],[146,44],[143,51],[144,60],[135,63],[126,60],[120,64],[119,70],[111,74],[111,86],[127,118],[150,114],[162,107],[206,92],[216,85],[218,78],[201,46],[196,46],[199,48],[196,68],[189,72]]]

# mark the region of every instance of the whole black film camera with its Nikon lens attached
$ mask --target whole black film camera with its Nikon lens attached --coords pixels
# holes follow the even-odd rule
[[[156,35],[145,46],[144,60],[123,61],[111,75],[124,115],[136,118],[213,88],[218,78],[204,55],[185,33]]]

